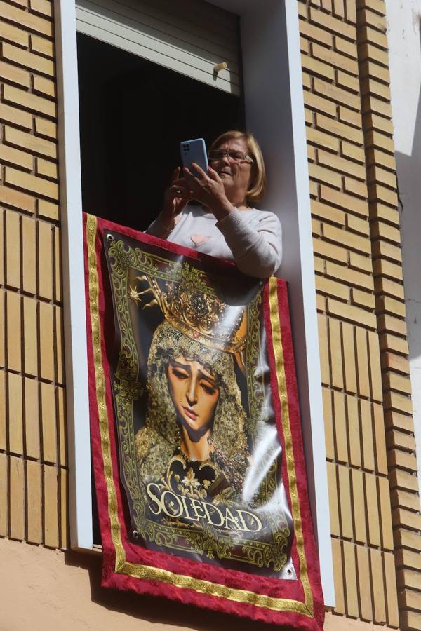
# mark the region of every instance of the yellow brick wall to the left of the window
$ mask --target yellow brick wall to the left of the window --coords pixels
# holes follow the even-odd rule
[[[0,1],[0,535],[67,543],[53,15]]]

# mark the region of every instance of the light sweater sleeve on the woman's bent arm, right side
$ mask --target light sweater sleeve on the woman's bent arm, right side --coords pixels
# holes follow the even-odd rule
[[[246,213],[234,208],[216,226],[234,255],[236,266],[248,276],[267,278],[279,268],[282,230],[273,212],[260,211],[258,224],[248,222]]]

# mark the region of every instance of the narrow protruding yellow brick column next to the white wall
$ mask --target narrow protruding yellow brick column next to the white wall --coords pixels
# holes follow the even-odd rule
[[[421,629],[421,516],[406,341],[385,2],[358,2],[361,102],[402,629]]]

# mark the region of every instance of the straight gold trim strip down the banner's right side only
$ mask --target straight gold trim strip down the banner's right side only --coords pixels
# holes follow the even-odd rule
[[[281,401],[281,422],[285,440],[286,470],[288,473],[288,485],[292,504],[291,513],[294,520],[295,541],[297,542],[298,557],[300,559],[300,578],[302,588],[304,589],[305,604],[309,613],[313,615],[313,594],[307,573],[307,561],[302,538],[300,499],[298,498],[297,480],[295,479],[293,439],[290,428],[285,365],[283,363],[281,323],[279,322],[278,284],[276,278],[269,278],[269,313],[276,366],[276,381],[278,382],[279,400]]]

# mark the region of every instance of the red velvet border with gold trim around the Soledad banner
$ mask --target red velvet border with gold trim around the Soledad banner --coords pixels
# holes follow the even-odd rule
[[[194,250],[187,250],[187,248],[117,226],[103,219],[96,219],[96,217],[85,215],[84,225],[91,444],[103,546],[102,584],[121,590],[166,596],[187,604],[236,613],[238,616],[265,620],[268,623],[294,628],[322,629],[323,595],[307,497],[286,283],[271,279],[265,287],[263,304],[276,423],[285,454],[283,409],[284,416],[289,416],[290,445],[287,445],[287,448],[293,449],[295,461],[293,476],[290,475],[289,480],[293,480],[295,484],[294,493],[296,489],[295,496],[301,515],[300,524],[298,524],[297,511],[294,506],[291,507],[295,530],[297,531],[298,526],[302,530],[300,543],[302,552],[299,555],[297,538],[294,539],[292,552],[294,566],[296,569],[300,568],[298,581],[281,581],[216,568],[163,552],[145,550],[128,541],[119,482],[114,409],[107,362],[108,349],[105,344],[107,336],[103,329],[105,310],[112,309],[107,274],[103,275],[103,271],[107,269],[102,250],[103,233],[105,230],[119,231],[140,242],[152,243],[163,250],[201,259],[201,261],[206,261],[213,271],[215,268],[220,271],[232,269],[232,264],[219,262]],[[281,348],[274,348],[273,344],[276,337],[276,332],[274,335],[272,331],[275,309],[280,323]],[[282,407],[279,395],[280,386],[276,380],[276,362],[279,361],[279,351],[283,351],[285,374],[285,393],[281,392],[281,395],[285,395],[286,404],[284,402],[283,405],[287,407]],[[286,410],[288,414],[285,414]],[[282,459],[282,475],[288,492],[290,482],[288,482],[286,460],[286,458]],[[306,590],[303,588],[303,584],[307,584],[306,581],[309,585],[307,597]],[[190,585],[194,585],[194,588]]]

